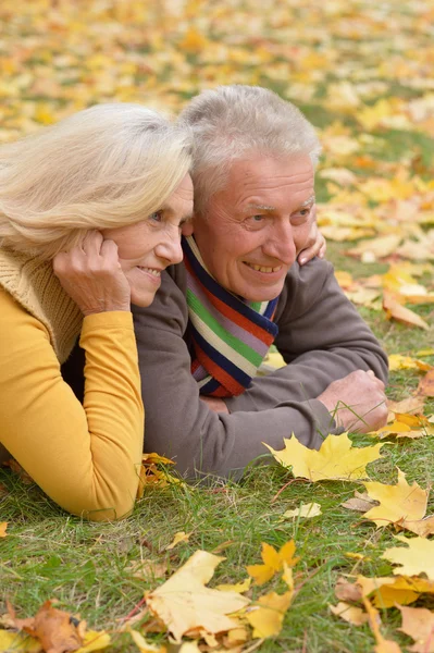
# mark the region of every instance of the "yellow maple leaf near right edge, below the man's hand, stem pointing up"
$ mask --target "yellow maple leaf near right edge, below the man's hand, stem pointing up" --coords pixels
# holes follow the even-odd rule
[[[372,519],[377,527],[399,523],[411,530],[412,522],[421,520],[425,516],[427,505],[427,492],[422,490],[414,481],[409,485],[406,475],[398,469],[398,482],[396,485],[387,485],[375,481],[364,482],[370,498],[380,502],[363,515]]]

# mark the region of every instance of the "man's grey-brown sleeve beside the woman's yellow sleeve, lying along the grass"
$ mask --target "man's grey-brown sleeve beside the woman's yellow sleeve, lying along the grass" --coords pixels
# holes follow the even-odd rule
[[[185,296],[168,273],[152,305],[133,307],[133,313],[146,408],[145,447],[173,458],[181,473],[227,477],[266,455],[263,442],[282,448],[283,438],[294,431],[307,446],[318,448],[333,428],[317,399],[288,398],[260,414],[209,410],[190,373]]]

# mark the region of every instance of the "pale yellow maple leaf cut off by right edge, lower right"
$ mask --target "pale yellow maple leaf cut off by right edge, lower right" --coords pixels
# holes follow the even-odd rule
[[[434,580],[434,542],[420,537],[411,539],[405,535],[395,537],[408,544],[408,549],[393,546],[381,556],[390,563],[401,565],[394,569],[394,574],[401,576],[426,574],[430,580]]]

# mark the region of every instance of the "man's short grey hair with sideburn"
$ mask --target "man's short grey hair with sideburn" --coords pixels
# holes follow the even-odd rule
[[[179,115],[194,133],[195,213],[206,212],[226,183],[231,163],[260,153],[308,155],[313,168],[321,145],[313,126],[290,102],[259,86],[218,86],[194,98]]]

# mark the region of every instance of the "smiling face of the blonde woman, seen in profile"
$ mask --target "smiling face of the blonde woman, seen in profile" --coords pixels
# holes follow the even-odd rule
[[[193,182],[186,174],[161,209],[141,222],[106,229],[117,245],[119,260],[132,289],[132,304],[149,306],[161,284],[161,272],[183,260],[181,227],[193,213]]]

